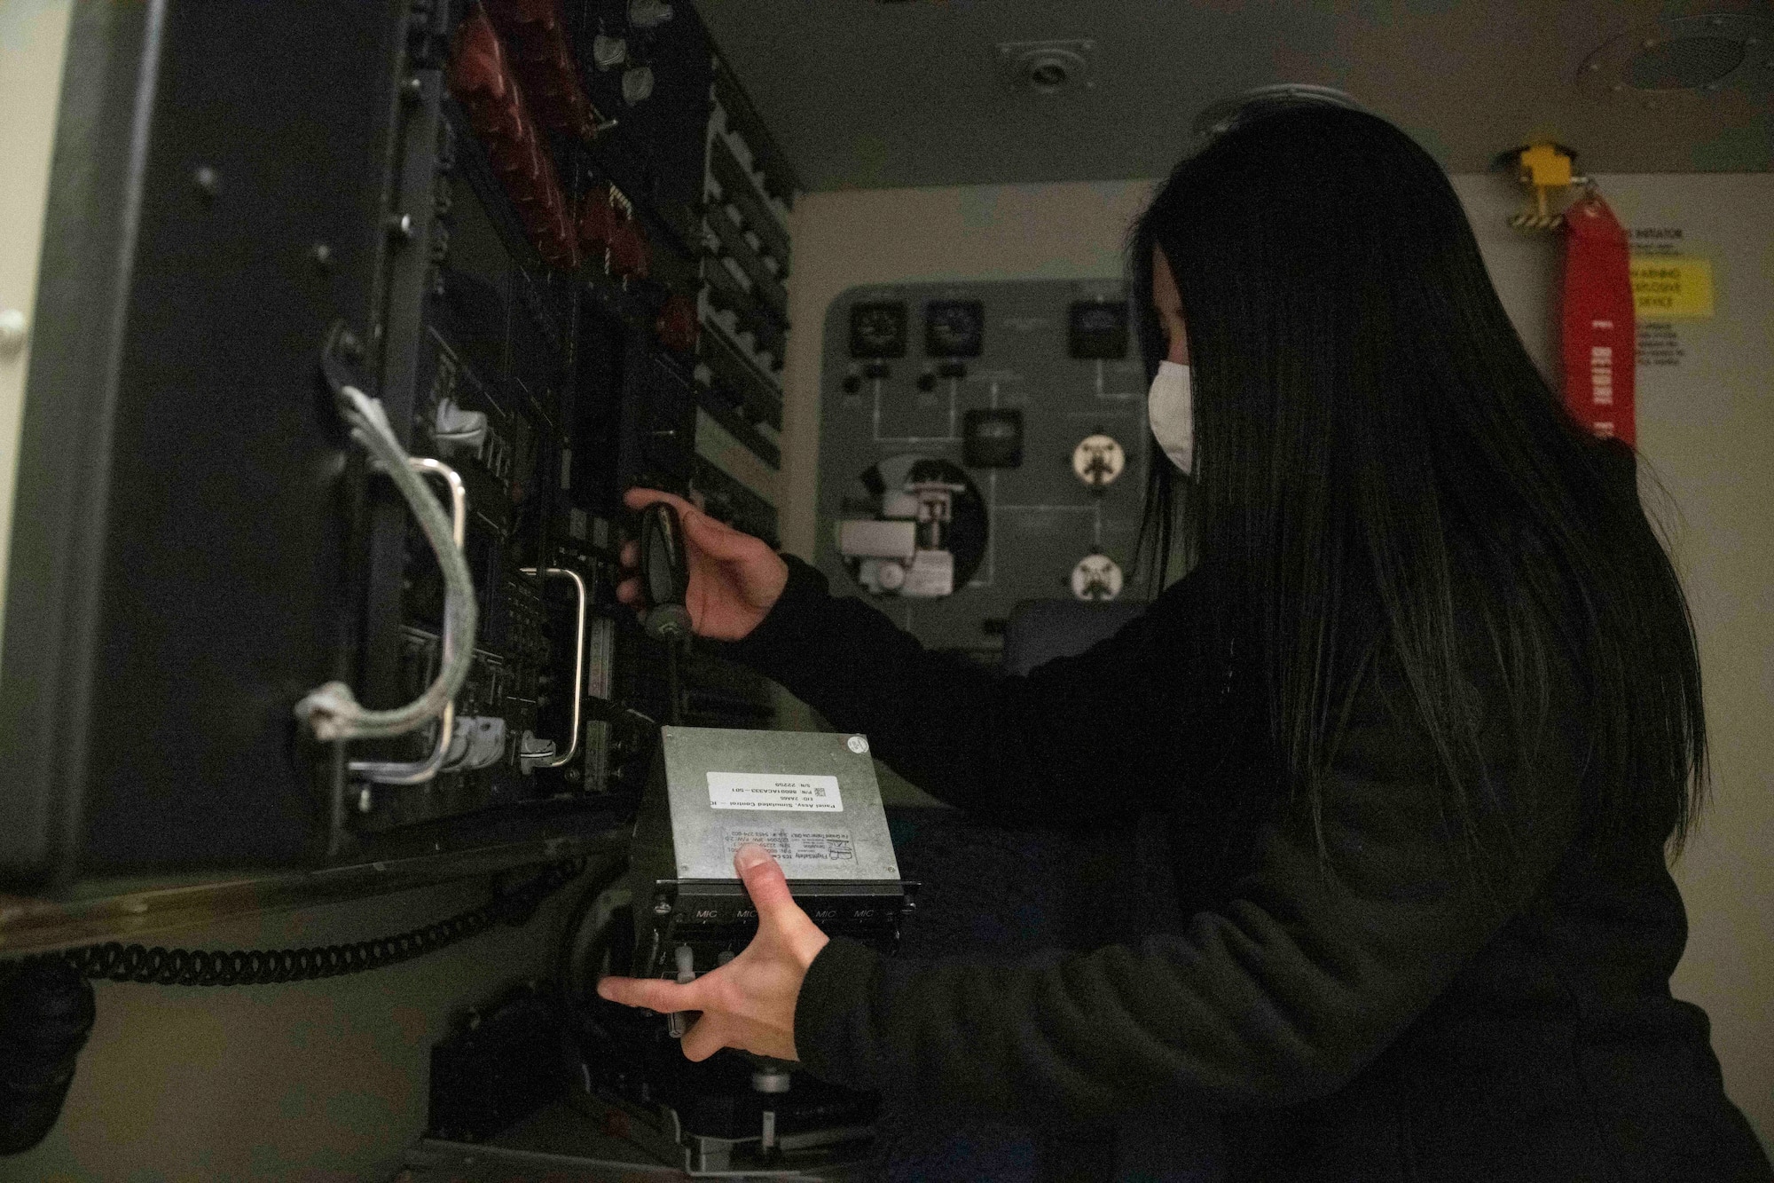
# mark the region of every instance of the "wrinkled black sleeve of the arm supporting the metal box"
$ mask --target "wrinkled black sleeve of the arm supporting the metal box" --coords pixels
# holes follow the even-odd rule
[[[903,1103],[1024,1123],[1323,1096],[1428,1007],[1568,846],[1579,755],[1554,735],[1531,758],[1487,748],[1503,805],[1481,815],[1469,865],[1428,741],[1364,695],[1323,789],[1323,861],[1309,812],[1281,810],[1226,904],[1141,949],[912,963],[832,940],[800,989],[798,1055]]]

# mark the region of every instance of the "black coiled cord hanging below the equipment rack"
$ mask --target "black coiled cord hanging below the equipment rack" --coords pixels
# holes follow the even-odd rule
[[[410,961],[483,933],[497,922],[523,924],[545,899],[571,883],[585,869],[585,860],[553,863],[522,886],[459,911],[420,929],[396,936],[378,936],[353,945],[316,945],[312,949],[147,949],[144,945],[82,945],[25,957],[62,959],[78,973],[112,982],[151,986],[266,986],[271,982],[312,982],[341,973],[364,973]]]

